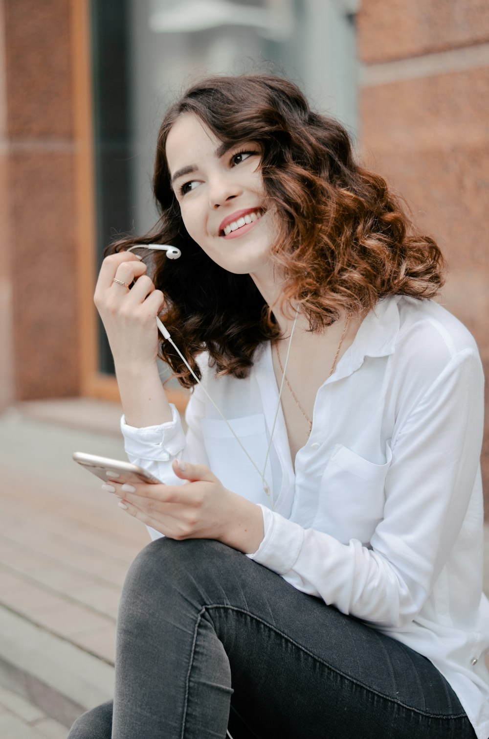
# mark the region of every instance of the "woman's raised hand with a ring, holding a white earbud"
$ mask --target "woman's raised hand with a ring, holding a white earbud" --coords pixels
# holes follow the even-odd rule
[[[133,287],[120,285],[114,278]],[[146,265],[131,252],[106,256],[103,260],[94,302],[103,321],[114,364],[125,369],[143,369],[156,364],[158,330],[156,317],[164,297],[146,275]]]

